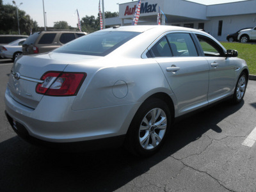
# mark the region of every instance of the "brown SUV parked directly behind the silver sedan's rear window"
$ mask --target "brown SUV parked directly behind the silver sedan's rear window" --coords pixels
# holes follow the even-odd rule
[[[87,33],[81,31],[40,31],[30,35],[22,45],[23,54],[52,51]]]

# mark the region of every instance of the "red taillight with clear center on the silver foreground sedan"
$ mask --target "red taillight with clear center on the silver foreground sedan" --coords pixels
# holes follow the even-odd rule
[[[41,79],[44,83],[36,85],[36,93],[51,96],[76,95],[86,73],[46,72]]]

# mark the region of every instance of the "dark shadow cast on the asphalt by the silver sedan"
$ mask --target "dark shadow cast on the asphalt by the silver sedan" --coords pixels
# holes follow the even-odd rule
[[[221,134],[218,123],[243,104],[234,106],[222,102],[178,122],[163,148],[148,158],[132,156],[123,148],[54,152],[34,147],[15,136],[0,143],[0,191],[115,191],[198,140],[205,132],[212,130]],[[172,167],[168,168],[166,171],[171,172]],[[130,186],[132,188],[132,184]]]

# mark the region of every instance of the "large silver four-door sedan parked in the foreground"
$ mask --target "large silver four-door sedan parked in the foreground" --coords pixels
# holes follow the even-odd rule
[[[15,60],[6,116],[25,140],[141,156],[175,118],[222,99],[241,102],[248,67],[211,35],[175,26],[114,27]]]

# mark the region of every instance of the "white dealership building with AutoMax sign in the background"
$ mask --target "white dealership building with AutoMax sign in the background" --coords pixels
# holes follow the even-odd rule
[[[106,26],[131,25],[137,3],[119,4],[119,17],[106,19]],[[157,24],[159,6],[164,13],[162,25],[203,29],[220,41],[239,29],[256,26],[256,0],[213,5],[185,0],[142,0],[138,25]]]

